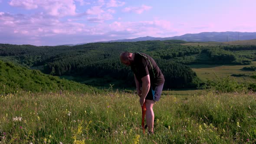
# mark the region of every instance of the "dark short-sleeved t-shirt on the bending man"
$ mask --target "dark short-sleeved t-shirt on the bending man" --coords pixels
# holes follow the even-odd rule
[[[142,83],[141,78],[146,75],[150,77],[152,86],[158,86],[164,83],[164,75],[159,69],[158,65],[150,56],[144,53],[134,53],[134,62],[131,65],[131,70],[134,72],[136,78]]]

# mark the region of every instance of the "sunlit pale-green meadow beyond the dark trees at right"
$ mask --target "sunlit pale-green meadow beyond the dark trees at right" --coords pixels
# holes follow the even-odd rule
[[[213,80],[216,75],[220,78],[230,76],[232,74],[243,75],[242,77],[233,77],[238,82],[255,82],[254,79],[249,76],[254,75],[253,71],[241,70],[245,66],[256,66],[256,61],[253,61],[250,65],[189,65],[190,68],[197,73],[199,79],[203,81]]]

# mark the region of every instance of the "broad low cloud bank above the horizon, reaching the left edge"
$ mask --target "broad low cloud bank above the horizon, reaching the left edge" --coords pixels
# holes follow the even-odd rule
[[[81,21],[79,18],[63,21],[44,13],[28,16],[0,12],[0,43],[59,45],[139,36],[170,36],[175,30],[165,20],[104,22],[112,18],[109,13],[90,15],[87,20],[98,23],[86,25],[76,22]]]

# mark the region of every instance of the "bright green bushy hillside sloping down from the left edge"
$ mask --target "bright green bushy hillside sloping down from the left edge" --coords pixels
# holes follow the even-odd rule
[[[38,70],[29,70],[0,60],[0,94],[12,93],[20,90],[32,92],[60,92],[71,90],[92,93],[96,88],[84,84],[59,79],[46,75]]]

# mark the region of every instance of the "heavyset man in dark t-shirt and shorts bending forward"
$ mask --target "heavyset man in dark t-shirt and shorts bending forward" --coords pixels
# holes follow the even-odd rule
[[[154,111],[155,101],[159,101],[164,86],[164,75],[158,65],[150,56],[136,52],[123,52],[120,55],[123,64],[131,66],[134,73],[136,90],[140,97],[141,107],[146,105],[146,122],[148,132],[154,133]],[[142,88],[142,89],[141,89]]]

